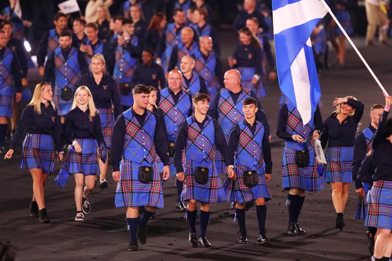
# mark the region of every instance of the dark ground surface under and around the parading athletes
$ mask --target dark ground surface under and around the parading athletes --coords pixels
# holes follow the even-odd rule
[[[222,48],[223,58],[233,50],[236,39],[232,35],[231,31],[221,33],[221,43],[225,45]],[[363,42],[364,39],[355,39],[371,68],[392,93],[392,89],[388,88],[392,80],[392,49],[366,48]],[[335,52],[331,52],[330,57],[334,66]],[[224,64],[227,62],[224,61]],[[36,70],[30,71],[29,80],[32,86],[39,80]],[[334,66],[323,72],[320,84],[321,101],[324,104],[321,107],[323,119],[333,111],[334,97],[355,95],[367,108],[361,121],[363,129],[369,122],[369,106],[384,101],[376,83],[351,48],[347,51],[346,65],[343,68]],[[116,183],[111,178],[111,168],[107,178],[109,188],[100,191],[97,187],[89,197],[92,212],[86,215],[84,222],[75,222],[74,181],[70,178],[65,190],[61,190],[53,182],[59,170],[57,162],[54,172],[48,178],[45,191],[51,223],[40,224],[38,218],[29,216],[32,179],[27,170],[19,169],[20,148],[12,160],[0,159],[0,240],[18,247],[17,260],[368,260],[363,221],[354,220],[357,204],[354,186],[349,191],[343,232],[334,229],[335,213],[331,189],[325,184],[325,190],[306,194],[299,217],[299,223],[306,230],[306,235],[285,235],[288,214],[284,204],[287,192],[281,188],[283,142],[274,134],[280,96],[277,82],[269,83],[269,90],[270,95],[262,99],[262,104],[274,136],[270,182],[273,200],[267,203],[266,225],[267,235],[271,239],[270,245],[261,247],[255,243],[258,234],[255,208],[246,213],[249,243],[237,244],[238,225],[233,223],[234,211],[228,210],[227,203],[217,203],[211,206],[212,213],[207,230],[207,238],[212,247],[191,248],[187,241],[188,225],[183,219],[183,213],[174,211],[176,189],[172,180],[164,184],[166,207],[158,210],[157,219],[148,223],[147,244],[142,245],[139,252],[128,252],[125,209],[114,207]]]

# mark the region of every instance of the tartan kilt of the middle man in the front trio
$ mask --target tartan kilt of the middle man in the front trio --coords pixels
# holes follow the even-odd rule
[[[206,167],[209,170],[206,184],[199,184],[195,180],[196,167]],[[185,181],[181,193],[181,201],[194,199],[200,202],[222,202],[227,201],[221,178],[214,166],[214,161],[198,163],[185,160]]]

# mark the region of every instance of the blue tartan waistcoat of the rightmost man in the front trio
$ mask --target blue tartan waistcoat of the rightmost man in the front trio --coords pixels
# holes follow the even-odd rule
[[[240,137],[236,151],[236,164],[247,167],[260,168],[263,166],[263,136],[264,125],[256,121],[254,134],[250,131],[244,121],[238,123],[240,126]]]

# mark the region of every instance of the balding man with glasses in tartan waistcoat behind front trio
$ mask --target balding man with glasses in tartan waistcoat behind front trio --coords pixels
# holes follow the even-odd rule
[[[187,117],[192,115],[192,96],[181,88],[181,83],[184,79],[178,70],[169,72],[168,84],[169,87],[161,91],[161,100],[159,107],[162,109],[166,123],[166,130],[168,134],[168,148],[170,172],[177,173],[176,166],[173,162],[174,157],[174,142],[177,137],[179,125]],[[177,186],[177,211],[185,212],[184,203],[181,202],[181,193],[183,182],[176,180]]]

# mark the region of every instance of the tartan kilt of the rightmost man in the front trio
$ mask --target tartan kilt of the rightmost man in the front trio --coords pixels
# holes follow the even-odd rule
[[[259,183],[252,188],[244,184],[244,172],[247,170],[257,170],[259,173]],[[237,174],[236,180],[233,181],[226,177],[223,184],[229,202],[238,202],[241,204],[258,198],[272,199],[270,188],[266,183],[264,166],[257,169],[236,164],[234,171]]]

